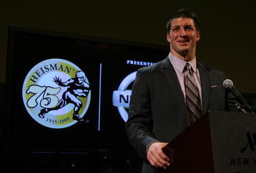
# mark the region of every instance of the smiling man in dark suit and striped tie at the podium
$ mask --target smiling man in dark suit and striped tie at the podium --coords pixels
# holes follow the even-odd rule
[[[180,9],[167,22],[169,56],[137,71],[126,129],[129,141],[144,159],[143,173],[153,172],[152,167],[171,167],[172,158],[162,148],[207,110],[235,110],[232,93],[222,86],[225,75],[196,61],[199,40],[197,16]],[[192,77],[186,76],[188,69]],[[192,78],[192,89],[187,78]],[[189,100],[190,90],[195,105]]]

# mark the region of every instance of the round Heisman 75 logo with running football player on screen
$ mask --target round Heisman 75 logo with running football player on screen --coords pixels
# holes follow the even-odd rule
[[[39,124],[64,128],[83,121],[91,91],[85,73],[74,63],[41,61],[26,75],[22,96],[29,115]]]

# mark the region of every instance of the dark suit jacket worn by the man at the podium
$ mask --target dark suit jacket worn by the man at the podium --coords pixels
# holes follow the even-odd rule
[[[202,88],[202,112],[235,110],[235,99],[223,88],[225,75],[197,63]],[[154,140],[170,142],[189,126],[179,80],[169,58],[137,71],[126,129],[134,150],[144,159],[142,172],[153,172],[147,146]]]

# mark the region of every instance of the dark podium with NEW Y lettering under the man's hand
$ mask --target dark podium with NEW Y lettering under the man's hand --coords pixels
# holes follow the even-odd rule
[[[255,173],[256,114],[209,111],[163,148],[155,173]]]

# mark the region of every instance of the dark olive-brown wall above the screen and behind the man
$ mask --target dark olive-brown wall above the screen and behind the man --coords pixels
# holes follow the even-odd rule
[[[167,46],[165,23],[180,7],[200,16],[198,60],[224,71],[242,93],[255,93],[256,23],[252,1],[3,0],[0,83],[5,81],[9,25]]]

